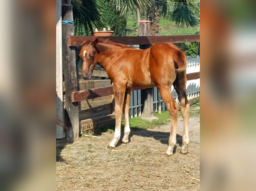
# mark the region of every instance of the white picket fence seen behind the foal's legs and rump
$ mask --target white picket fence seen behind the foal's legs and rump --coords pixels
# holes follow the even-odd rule
[[[187,69],[186,73],[200,72],[200,57],[187,57]],[[189,80],[186,83],[187,98],[193,99],[200,95],[200,79]],[[173,86],[171,86],[171,92],[176,101],[178,102],[177,93]],[[166,106],[163,102],[161,95],[156,87],[153,88],[153,104],[154,112],[158,110],[165,110]],[[141,116],[141,90],[132,91],[130,99],[130,111],[129,116],[131,118]]]

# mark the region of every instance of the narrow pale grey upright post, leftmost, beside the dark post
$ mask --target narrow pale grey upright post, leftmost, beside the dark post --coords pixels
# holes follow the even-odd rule
[[[56,115],[63,119],[61,0],[56,0]],[[61,123],[62,123],[61,121]],[[56,124],[56,139],[62,139],[64,124]]]

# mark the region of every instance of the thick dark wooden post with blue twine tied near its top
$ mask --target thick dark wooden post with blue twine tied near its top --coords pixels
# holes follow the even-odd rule
[[[73,20],[73,5],[62,5],[62,21]],[[72,103],[71,92],[77,91],[77,71],[75,47],[69,47],[68,35],[74,35],[74,24],[62,24],[62,65],[65,80],[65,122],[67,139],[77,141],[79,137],[78,104]]]

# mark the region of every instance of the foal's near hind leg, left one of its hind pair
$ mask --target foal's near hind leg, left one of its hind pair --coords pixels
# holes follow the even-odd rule
[[[170,86],[157,86],[158,90],[160,91],[161,97],[163,101],[166,103],[168,111],[171,115],[171,129],[170,129],[170,137],[169,137],[169,144],[166,150],[165,155],[170,156],[172,155],[173,147],[176,144],[176,127],[177,127],[177,119],[178,119],[178,104],[173,98],[171,94]]]

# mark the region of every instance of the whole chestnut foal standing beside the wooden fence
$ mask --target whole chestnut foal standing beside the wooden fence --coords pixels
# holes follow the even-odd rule
[[[186,55],[171,43],[158,43],[145,50],[134,49],[127,45],[117,44],[110,40],[84,41],[81,46],[80,58],[82,77],[90,79],[96,64],[106,70],[113,82],[115,95],[116,126],[114,138],[108,148],[113,148],[121,136],[121,117],[124,113],[125,127],[123,143],[128,143],[129,102],[132,89],[143,89],[156,86],[166,103],[171,116],[169,144],[166,156],[172,155],[176,144],[176,126],[178,104],[171,94],[171,85],[178,94],[180,110],[184,122],[182,147],[180,153],[187,153],[188,118],[190,104],[186,96]]]

